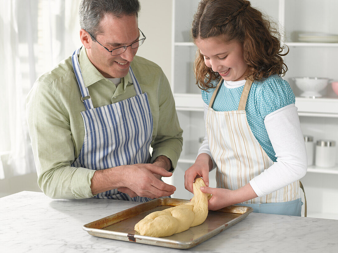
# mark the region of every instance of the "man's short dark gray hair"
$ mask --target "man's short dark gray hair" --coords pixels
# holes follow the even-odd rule
[[[82,29],[96,37],[102,33],[100,22],[105,14],[119,18],[124,15],[136,15],[140,11],[139,0],[81,0],[79,20]]]

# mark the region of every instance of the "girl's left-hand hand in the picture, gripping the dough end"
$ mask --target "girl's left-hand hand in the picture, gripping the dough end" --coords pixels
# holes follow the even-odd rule
[[[212,168],[212,161],[208,154],[202,153],[197,156],[195,163],[184,174],[184,186],[188,191],[194,193],[192,184],[197,177],[203,177],[204,184],[209,186],[210,164]]]

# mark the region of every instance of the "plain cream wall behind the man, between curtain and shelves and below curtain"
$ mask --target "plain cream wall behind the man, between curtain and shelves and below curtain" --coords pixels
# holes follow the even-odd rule
[[[160,65],[170,82],[171,77],[171,0],[140,0],[141,12],[139,27],[147,37],[139,48],[137,55],[147,58]],[[71,4],[71,2],[67,2]],[[5,171],[6,154],[2,155]],[[20,191],[41,191],[37,184],[37,174],[5,177],[0,180],[0,197]]]

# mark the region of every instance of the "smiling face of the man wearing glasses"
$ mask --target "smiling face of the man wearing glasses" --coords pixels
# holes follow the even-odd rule
[[[103,33],[97,35],[95,39],[109,50],[129,46],[139,40],[140,32],[135,15],[117,18],[106,14],[100,26]],[[90,44],[90,48],[87,48],[88,58],[104,77],[122,78],[127,75],[130,62],[134,59],[138,48],[132,49],[129,46],[122,54],[112,56],[95,40],[88,41]]]

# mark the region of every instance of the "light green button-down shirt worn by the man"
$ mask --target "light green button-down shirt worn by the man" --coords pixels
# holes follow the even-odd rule
[[[94,67],[84,49],[80,51],[79,63],[94,107],[136,96],[129,73],[116,87]],[[169,82],[158,65],[142,57],[135,56],[131,68],[142,92],[147,92],[151,108],[151,162],[165,155],[175,168],[182,151],[183,131]],[[95,170],[71,167],[83,145],[80,112],[86,110],[71,57],[38,78],[27,96],[26,109],[39,187],[52,198],[92,197],[90,186]]]

